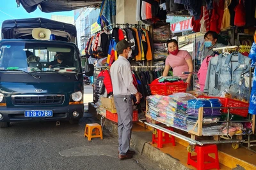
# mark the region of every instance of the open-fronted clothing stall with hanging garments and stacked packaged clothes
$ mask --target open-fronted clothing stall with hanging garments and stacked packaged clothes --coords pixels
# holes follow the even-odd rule
[[[251,101],[256,74],[250,53],[254,52],[256,43],[256,1],[200,1],[190,5],[175,2],[142,1],[136,9],[138,24],[103,25],[102,30],[88,40],[85,52],[89,62],[95,64],[93,104],[97,114],[102,116],[101,120],[117,122],[109,67],[118,57],[116,43],[127,39],[134,42],[129,58],[134,85],[143,94],[141,103],[134,106],[134,131],[149,129],[152,136],[158,138],[162,132],[175,136],[176,146],[172,142],[160,146],[157,140],[154,142],[154,137],[152,145],[183,159],[184,164],[187,164],[184,154],[195,151],[195,146],[218,144],[221,164],[232,167],[240,160],[239,164],[247,162],[250,166],[244,166],[255,167],[256,110]],[[157,12],[148,11],[147,4]],[[144,10],[147,15],[141,12]],[[172,24],[166,22],[169,15],[191,18],[192,33],[173,34]],[[212,48],[210,56],[204,56],[207,31],[217,32],[218,42],[223,44]],[[172,69],[168,78],[161,77],[169,55],[168,38],[177,39],[179,49],[187,50],[193,59],[193,91],[186,91],[186,84],[173,76]],[[204,63],[207,68],[202,70]],[[215,75],[218,79],[213,78]],[[230,78],[227,85],[229,76],[237,79]],[[182,151],[173,152],[175,148]],[[227,155],[237,160],[228,163]]]

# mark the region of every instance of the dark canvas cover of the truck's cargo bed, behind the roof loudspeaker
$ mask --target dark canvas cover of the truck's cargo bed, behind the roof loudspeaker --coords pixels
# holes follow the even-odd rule
[[[76,27],[72,24],[49,20],[46,18],[27,18],[5,20],[2,25],[3,38],[30,38],[33,28],[46,28],[52,34],[64,38],[76,37]]]

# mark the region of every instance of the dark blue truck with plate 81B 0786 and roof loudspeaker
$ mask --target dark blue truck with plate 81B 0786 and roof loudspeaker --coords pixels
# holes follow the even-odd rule
[[[76,27],[44,18],[7,20],[2,34],[0,127],[50,120],[77,124],[83,117],[84,89],[79,50],[71,42],[76,42]]]

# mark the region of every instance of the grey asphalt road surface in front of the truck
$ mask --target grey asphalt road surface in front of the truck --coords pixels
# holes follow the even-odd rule
[[[0,129],[0,169],[158,169],[139,154],[118,160],[118,139],[108,131],[103,140],[84,138],[84,126],[95,120],[12,123]]]

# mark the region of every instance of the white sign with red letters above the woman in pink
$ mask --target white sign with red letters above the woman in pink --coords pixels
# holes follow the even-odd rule
[[[171,31],[173,33],[191,31],[193,29],[193,26],[191,24],[192,24],[192,19],[176,22],[171,25]]]

